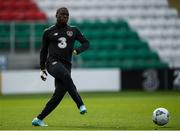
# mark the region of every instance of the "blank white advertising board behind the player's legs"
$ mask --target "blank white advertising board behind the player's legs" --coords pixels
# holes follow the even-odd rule
[[[80,92],[120,91],[119,69],[73,69],[72,78]],[[1,72],[2,94],[49,93],[54,91],[54,78],[46,82],[39,77],[39,70]]]

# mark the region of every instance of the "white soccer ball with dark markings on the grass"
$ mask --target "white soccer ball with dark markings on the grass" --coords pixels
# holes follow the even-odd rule
[[[169,121],[169,112],[165,108],[157,108],[153,111],[152,120],[155,124],[163,126]]]

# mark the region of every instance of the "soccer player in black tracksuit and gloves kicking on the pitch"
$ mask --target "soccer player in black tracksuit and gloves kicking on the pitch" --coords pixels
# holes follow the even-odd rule
[[[45,30],[40,51],[40,76],[43,81],[47,78],[46,70],[55,78],[55,91],[42,112],[33,119],[34,126],[47,126],[43,119],[50,114],[61,102],[66,92],[76,103],[80,114],[87,113],[86,107],[77,92],[71,78],[71,57],[89,48],[89,41],[81,34],[77,27],[67,24],[69,11],[66,7],[56,12],[56,24]],[[74,42],[81,46],[74,48]]]

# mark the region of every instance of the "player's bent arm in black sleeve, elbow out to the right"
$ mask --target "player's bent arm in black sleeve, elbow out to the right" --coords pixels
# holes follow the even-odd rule
[[[76,28],[76,40],[78,40],[81,43],[81,46],[75,48],[73,50],[73,54],[80,54],[89,48],[90,46],[89,41],[86,39],[84,35],[82,35],[82,33],[77,28]]]

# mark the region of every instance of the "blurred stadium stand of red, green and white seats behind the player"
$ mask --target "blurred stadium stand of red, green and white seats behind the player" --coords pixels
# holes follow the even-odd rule
[[[170,8],[167,0],[20,0],[16,6],[13,2],[0,0],[2,51],[17,54],[30,50],[38,61],[43,30],[55,22],[56,9],[62,5],[70,10],[70,23],[78,26],[91,42],[90,50],[74,59],[75,66],[122,69],[180,66],[180,22],[177,10]],[[24,16],[6,16],[11,14],[10,5]],[[28,9],[27,13],[23,8]]]

